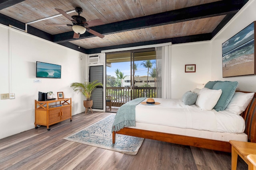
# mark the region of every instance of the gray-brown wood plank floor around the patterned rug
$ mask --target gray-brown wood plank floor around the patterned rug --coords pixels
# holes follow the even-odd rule
[[[0,139],[0,169],[13,170],[230,170],[231,154],[145,139],[137,155],[63,138],[112,113],[80,113],[70,120]],[[1,129],[1,131],[4,129]],[[239,157],[239,156],[238,156]],[[247,164],[239,157],[237,170]]]

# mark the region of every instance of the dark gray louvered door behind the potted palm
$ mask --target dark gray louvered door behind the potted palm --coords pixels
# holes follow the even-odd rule
[[[103,84],[103,66],[90,66],[89,82],[98,80]],[[91,100],[93,100],[93,109],[103,109],[103,87],[98,86],[93,92]]]

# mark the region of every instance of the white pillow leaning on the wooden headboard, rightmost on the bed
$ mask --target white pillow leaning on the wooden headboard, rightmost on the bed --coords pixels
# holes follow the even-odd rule
[[[252,100],[254,93],[235,92],[225,110],[240,115]]]

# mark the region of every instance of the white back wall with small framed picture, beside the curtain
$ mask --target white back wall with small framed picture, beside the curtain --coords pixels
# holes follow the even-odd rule
[[[196,72],[185,72],[185,64],[196,64]],[[210,41],[172,45],[172,98],[210,81],[210,68]]]

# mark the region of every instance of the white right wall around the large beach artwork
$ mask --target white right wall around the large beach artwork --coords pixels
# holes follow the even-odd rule
[[[211,80],[238,81],[238,90],[256,92],[256,76],[235,76],[222,78],[222,43],[256,20],[256,0],[247,4],[212,39],[212,75]],[[255,42],[254,42],[255,43]],[[255,54],[254,54],[255,55]]]

